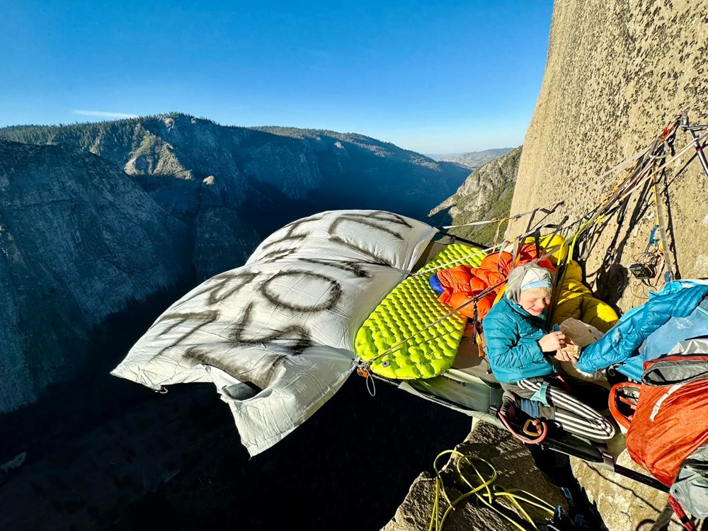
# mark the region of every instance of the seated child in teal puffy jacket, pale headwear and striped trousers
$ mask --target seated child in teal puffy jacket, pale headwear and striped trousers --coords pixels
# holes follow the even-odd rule
[[[546,268],[530,263],[509,273],[504,297],[483,322],[489,364],[506,392],[531,400],[532,411],[527,413],[554,418],[564,430],[581,437],[610,440],[615,435],[612,424],[548,377],[555,372],[549,357],[574,359],[564,350],[564,333],[547,333],[551,292],[552,274]]]

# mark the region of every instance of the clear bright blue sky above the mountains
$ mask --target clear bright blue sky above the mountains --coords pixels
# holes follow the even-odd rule
[[[515,147],[551,15],[551,0],[4,0],[0,126],[179,111],[422,153]]]

